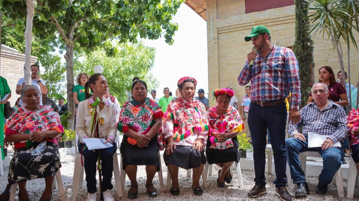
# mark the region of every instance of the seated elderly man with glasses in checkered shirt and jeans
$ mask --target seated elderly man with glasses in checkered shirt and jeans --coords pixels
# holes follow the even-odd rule
[[[314,84],[312,94],[314,102],[300,110],[300,122],[289,124],[292,138],[285,141],[290,175],[293,183],[297,184],[295,197],[309,194],[305,175],[300,167],[299,152],[318,151],[322,155],[323,170],[316,188],[316,193],[319,195],[327,193],[328,184],[343,163],[342,148],[333,145],[346,137],[345,111],[340,105],[328,100],[329,90],[326,84]],[[302,125],[302,133],[299,133],[298,129]],[[308,148],[308,132],[327,135],[321,147]]]

